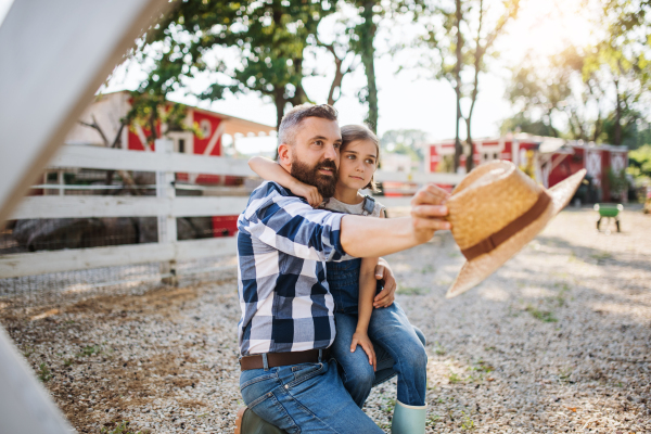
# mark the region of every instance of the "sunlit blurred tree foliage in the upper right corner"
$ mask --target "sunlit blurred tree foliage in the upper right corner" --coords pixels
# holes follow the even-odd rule
[[[651,90],[650,11],[646,0],[608,0],[598,18],[601,39],[525,59],[507,90],[516,115],[502,129],[639,145]]]

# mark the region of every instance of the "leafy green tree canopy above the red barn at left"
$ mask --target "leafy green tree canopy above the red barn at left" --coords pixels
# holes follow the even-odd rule
[[[137,53],[141,61],[154,61],[143,87],[166,94],[189,78],[208,74],[213,84],[199,98],[213,101],[225,91],[257,92],[271,98],[280,125],[288,105],[308,101],[304,52],[320,20],[332,10],[326,0],[178,1],[150,29]],[[235,53],[237,61],[226,61],[227,52]]]

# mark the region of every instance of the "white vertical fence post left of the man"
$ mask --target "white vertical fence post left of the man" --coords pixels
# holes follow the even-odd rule
[[[155,142],[156,153],[171,156],[174,142],[168,139],[158,139]],[[174,171],[156,171],[156,197],[174,200],[176,196]],[[174,243],[177,241],[176,217],[171,215],[171,206],[167,215],[158,216],[158,243]],[[168,263],[161,263],[161,275],[164,276],[163,283],[177,285],[176,258]]]

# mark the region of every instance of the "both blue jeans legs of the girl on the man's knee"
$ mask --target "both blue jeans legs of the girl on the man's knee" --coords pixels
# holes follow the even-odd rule
[[[336,337],[330,347],[340,363],[344,387],[361,408],[371,387],[398,375],[398,400],[408,406],[424,406],[427,387],[427,355],[423,333],[411,326],[397,303],[373,309],[368,334],[378,359],[376,371],[367,354],[357,346],[350,353],[350,342],[357,328],[357,316],[334,314]]]

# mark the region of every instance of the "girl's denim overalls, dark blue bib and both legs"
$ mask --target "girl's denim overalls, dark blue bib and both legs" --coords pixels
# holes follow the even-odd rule
[[[366,197],[363,214],[370,215],[375,206],[372,197]],[[334,323],[336,337],[331,346],[332,355],[340,366],[344,387],[361,408],[371,387],[398,375],[398,400],[409,406],[425,404],[426,366],[425,337],[411,326],[407,315],[394,302],[385,308],[373,309],[368,335],[373,343],[376,371],[361,346],[350,353],[353,334],[357,329],[359,305],[359,268],[361,259],[327,263],[327,281],[334,298]],[[378,281],[375,294],[383,290]]]

